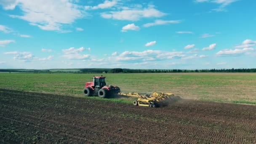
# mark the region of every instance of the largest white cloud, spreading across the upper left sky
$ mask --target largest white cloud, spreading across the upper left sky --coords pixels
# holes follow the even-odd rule
[[[73,0],[3,0],[1,2],[5,9],[14,9],[19,6],[22,15],[10,15],[12,18],[19,18],[29,21],[43,30],[61,29],[64,24],[72,24],[76,19],[83,18],[85,11],[81,6],[76,5]],[[39,6],[40,5],[40,6]]]

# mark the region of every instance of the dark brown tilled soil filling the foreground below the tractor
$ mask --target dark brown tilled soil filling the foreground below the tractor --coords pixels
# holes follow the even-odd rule
[[[168,107],[0,89],[0,143],[256,143],[256,106]]]

